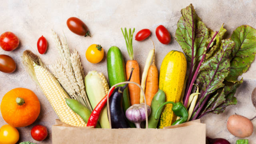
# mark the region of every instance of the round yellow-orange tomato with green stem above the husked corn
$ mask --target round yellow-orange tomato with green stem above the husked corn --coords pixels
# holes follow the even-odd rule
[[[86,50],[85,56],[89,62],[96,64],[104,57],[104,50],[99,44],[92,44]]]

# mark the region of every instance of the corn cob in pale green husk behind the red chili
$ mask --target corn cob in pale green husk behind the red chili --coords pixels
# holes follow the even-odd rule
[[[95,70],[88,72],[84,81],[88,98],[90,100],[92,108],[94,109],[97,104],[102,100],[102,98],[104,98],[104,96],[108,94],[108,82],[101,72],[97,72]],[[102,109],[99,117],[99,122],[102,128],[110,128],[108,122],[107,106],[104,106],[104,108]]]

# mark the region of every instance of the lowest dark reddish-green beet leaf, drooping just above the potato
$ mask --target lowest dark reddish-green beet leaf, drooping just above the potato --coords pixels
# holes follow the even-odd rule
[[[206,113],[215,113],[215,114],[220,114],[222,112],[225,111],[227,106],[230,106],[232,104],[236,104],[237,100],[236,97],[234,97],[235,93],[236,93],[236,89],[243,83],[243,78],[236,82],[235,84],[233,84],[233,86],[225,86],[220,94],[220,96],[218,97],[219,101],[215,100],[216,102],[211,104],[211,107],[204,110],[204,112]],[[220,98],[221,97],[221,98]],[[224,97],[224,99],[223,99]],[[222,99],[222,100],[220,100]],[[217,104],[221,103],[221,104]]]

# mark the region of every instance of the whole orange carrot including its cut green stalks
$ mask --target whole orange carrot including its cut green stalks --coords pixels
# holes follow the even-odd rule
[[[134,54],[133,54],[133,48],[132,48],[132,36],[133,36],[135,28],[133,29],[133,31],[131,31],[131,29],[129,29],[129,34],[128,34],[126,28],[124,28],[124,31],[122,28],[121,28],[121,30],[124,35],[126,47],[127,47],[128,54],[130,57],[130,60],[128,60],[126,63],[127,79],[130,77],[131,69],[134,68],[134,70],[132,72],[132,78],[130,81],[140,84],[140,67],[139,67],[138,62],[136,60],[134,60]],[[140,88],[138,86],[136,86],[135,84],[128,84],[128,90],[129,90],[131,105],[140,104]]]

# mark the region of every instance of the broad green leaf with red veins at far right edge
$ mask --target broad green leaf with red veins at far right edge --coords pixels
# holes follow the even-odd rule
[[[238,76],[248,70],[255,58],[256,30],[248,25],[239,26],[234,30],[231,40],[236,43],[236,46],[230,56],[230,73],[226,80],[237,82]]]

